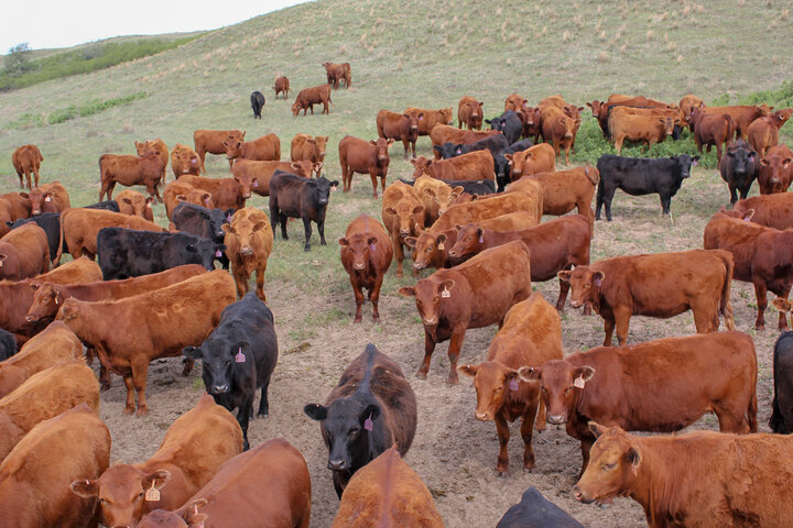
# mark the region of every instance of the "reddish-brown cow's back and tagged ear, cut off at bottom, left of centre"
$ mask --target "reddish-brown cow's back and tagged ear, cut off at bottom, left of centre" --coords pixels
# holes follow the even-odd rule
[[[174,512],[154,510],[137,528],[308,528],[311,476],[303,455],[274,438],[222,463],[213,480]]]

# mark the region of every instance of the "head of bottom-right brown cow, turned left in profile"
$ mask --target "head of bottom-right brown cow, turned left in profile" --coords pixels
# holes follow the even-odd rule
[[[590,421],[589,430],[597,440],[589,450],[589,463],[573,488],[573,496],[589,504],[633,490],[639,471],[644,471],[639,442],[619,427]]]

